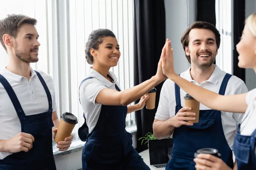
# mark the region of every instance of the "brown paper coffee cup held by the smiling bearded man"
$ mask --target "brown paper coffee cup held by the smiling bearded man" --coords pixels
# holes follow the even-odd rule
[[[195,100],[192,96],[190,96],[189,94],[186,94],[183,98],[185,101],[185,106],[192,108],[192,110],[186,111],[186,112],[195,113],[195,120],[187,120],[187,122],[198,123],[199,122],[200,103],[197,100]],[[188,116],[188,117],[194,117],[194,116]]]

